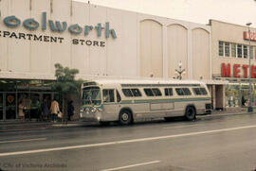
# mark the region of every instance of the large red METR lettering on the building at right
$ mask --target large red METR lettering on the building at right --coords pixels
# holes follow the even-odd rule
[[[248,77],[249,75],[249,65],[244,64],[233,64],[233,73],[231,76],[231,65],[230,63],[221,64],[221,77]],[[242,75],[243,71],[243,75]],[[256,78],[256,66],[251,65],[251,78]]]

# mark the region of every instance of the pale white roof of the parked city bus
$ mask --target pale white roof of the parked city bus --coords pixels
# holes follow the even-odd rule
[[[96,82],[98,85],[106,84],[120,84],[120,85],[129,85],[129,84],[205,84],[198,80],[178,80],[178,79],[167,79],[167,78],[125,78],[125,79],[113,79],[113,78],[97,78],[87,80],[86,82]]]

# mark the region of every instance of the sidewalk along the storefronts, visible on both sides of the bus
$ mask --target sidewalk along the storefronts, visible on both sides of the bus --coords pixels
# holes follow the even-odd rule
[[[256,111],[256,108],[254,109]],[[209,117],[214,115],[233,115],[247,113],[247,108],[229,108],[225,111],[212,111],[211,114],[198,115],[198,118]],[[29,131],[49,128],[74,128],[82,126],[99,125],[98,123],[83,121],[68,121],[67,123],[37,122],[37,121],[0,121],[0,133],[9,131]]]

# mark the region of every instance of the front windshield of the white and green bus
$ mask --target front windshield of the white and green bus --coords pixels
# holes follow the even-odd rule
[[[101,105],[101,91],[99,87],[82,89],[82,105]]]

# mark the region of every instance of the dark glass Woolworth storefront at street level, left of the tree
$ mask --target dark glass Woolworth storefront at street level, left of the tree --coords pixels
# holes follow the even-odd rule
[[[38,119],[43,99],[50,102],[53,95],[52,80],[0,79],[0,120],[18,119],[19,103],[25,102],[25,118]],[[62,101],[59,100],[62,104]]]

